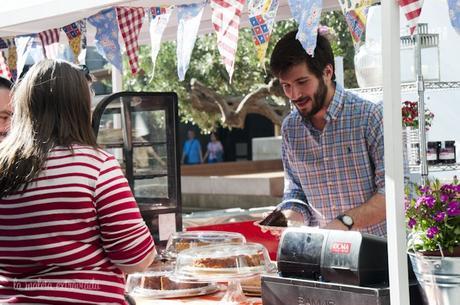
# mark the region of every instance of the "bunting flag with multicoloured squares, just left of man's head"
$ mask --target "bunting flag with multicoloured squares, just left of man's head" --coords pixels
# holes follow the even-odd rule
[[[265,59],[278,6],[279,0],[250,0],[248,3],[252,39],[260,63]]]

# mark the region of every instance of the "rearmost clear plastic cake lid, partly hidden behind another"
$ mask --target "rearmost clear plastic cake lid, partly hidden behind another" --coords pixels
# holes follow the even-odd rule
[[[166,245],[165,255],[176,257],[183,250],[215,244],[244,244],[246,238],[235,232],[190,231],[171,234]]]

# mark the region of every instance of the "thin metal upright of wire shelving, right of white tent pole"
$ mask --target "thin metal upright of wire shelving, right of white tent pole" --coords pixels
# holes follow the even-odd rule
[[[420,152],[420,175],[421,183],[428,182],[428,163],[426,160],[426,128],[425,128],[425,82],[422,73],[422,45],[421,25],[417,24],[415,34],[415,75],[417,76],[418,91],[418,131],[419,131],[419,152]]]

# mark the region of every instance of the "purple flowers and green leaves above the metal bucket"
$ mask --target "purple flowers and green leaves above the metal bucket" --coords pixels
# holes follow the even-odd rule
[[[460,246],[460,184],[438,180],[415,189],[406,189],[406,221],[410,230],[409,248],[416,251],[446,251]]]

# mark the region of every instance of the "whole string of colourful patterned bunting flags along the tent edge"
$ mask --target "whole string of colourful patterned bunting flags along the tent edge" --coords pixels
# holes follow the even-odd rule
[[[367,9],[375,0],[338,0],[346,17],[355,43],[364,39]],[[411,33],[420,16],[423,0],[398,1],[405,12]],[[15,80],[30,55],[34,60],[64,58],[76,63],[84,63],[86,56],[86,22],[96,28],[95,46],[97,51],[118,70],[122,70],[121,48],[118,42],[119,32],[123,38],[126,54],[132,74],[139,70],[138,37],[144,19],[148,19],[151,39],[151,59],[155,68],[160,50],[163,32],[167,27],[171,13],[177,13],[177,73],[184,80],[190,56],[198,35],[204,7],[210,4],[212,23],[217,34],[217,43],[222,62],[229,79],[234,70],[237,50],[240,18],[246,0],[205,0],[200,3],[167,7],[111,7],[83,20],[78,20],[62,28],[42,31],[27,36],[0,38],[0,75]],[[306,52],[314,56],[316,36],[322,10],[322,0],[288,0],[291,14],[299,24],[297,39]],[[460,28],[460,6],[457,0],[448,0],[452,25]],[[268,43],[273,30],[279,0],[248,0],[248,17],[252,29],[253,42],[258,60],[265,58]],[[65,52],[59,44],[60,30],[67,37],[70,51]],[[41,52],[33,49],[41,48]],[[152,76],[153,77],[153,76]]]

